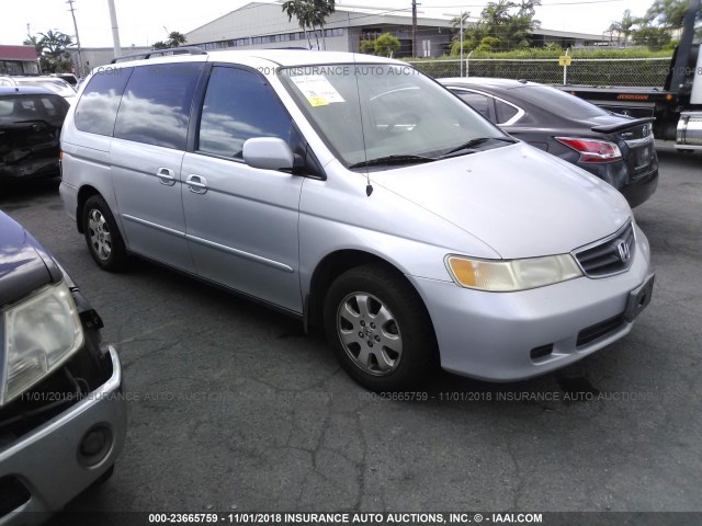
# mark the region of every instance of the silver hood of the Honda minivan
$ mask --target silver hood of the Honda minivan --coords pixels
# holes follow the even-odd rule
[[[375,172],[372,180],[505,259],[570,252],[631,217],[609,184],[524,144]]]

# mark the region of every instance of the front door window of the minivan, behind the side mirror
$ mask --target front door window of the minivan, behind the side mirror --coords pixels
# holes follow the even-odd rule
[[[263,77],[238,68],[215,67],[202,108],[197,149],[241,159],[244,142],[279,137],[290,142],[292,122]]]

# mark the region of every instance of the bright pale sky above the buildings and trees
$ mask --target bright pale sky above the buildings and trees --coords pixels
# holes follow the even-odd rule
[[[123,47],[147,46],[166,39],[168,32],[188,33],[249,3],[248,0],[114,0]],[[27,24],[31,34],[58,30],[75,35],[66,0],[2,0],[0,44],[22,44]],[[487,0],[419,0],[420,15],[457,14],[468,11],[477,18]],[[625,9],[643,14],[653,0],[542,0],[536,19],[547,30],[602,34]],[[8,9],[11,4],[12,9]],[[337,5],[401,9],[411,0],[337,0]],[[83,47],[112,47],[107,0],[73,0],[78,34]]]

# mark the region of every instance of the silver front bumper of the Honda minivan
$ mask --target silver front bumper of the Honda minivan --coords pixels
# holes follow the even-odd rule
[[[636,227],[634,261],[629,271],[611,277],[579,277],[519,293],[408,278],[431,316],[444,369],[514,381],[577,362],[627,334],[630,293],[649,275],[649,259],[648,240]]]

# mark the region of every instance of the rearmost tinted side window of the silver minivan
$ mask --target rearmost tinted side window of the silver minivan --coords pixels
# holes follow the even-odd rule
[[[78,107],[76,127],[81,132],[112,136],[120,99],[134,68],[105,68],[93,75]]]

